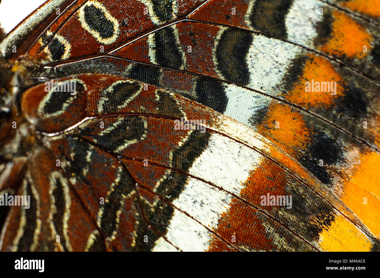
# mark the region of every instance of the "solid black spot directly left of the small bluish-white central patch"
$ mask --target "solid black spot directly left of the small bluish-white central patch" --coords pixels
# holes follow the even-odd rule
[[[195,92],[197,97],[193,100],[220,113],[225,111],[228,98],[222,83],[206,77],[198,77]]]

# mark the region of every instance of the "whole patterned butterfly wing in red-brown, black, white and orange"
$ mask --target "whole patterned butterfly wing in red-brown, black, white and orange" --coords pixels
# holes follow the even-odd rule
[[[46,1],[0,44],[0,250],[378,251],[379,18]]]

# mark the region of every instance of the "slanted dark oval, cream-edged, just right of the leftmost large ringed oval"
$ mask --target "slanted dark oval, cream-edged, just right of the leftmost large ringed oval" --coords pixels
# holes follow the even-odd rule
[[[103,103],[104,113],[116,113],[119,106],[125,103],[133,94],[137,93],[141,86],[137,83],[122,82],[114,85],[111,90],[103,91],[101,98],[107,100]]]

